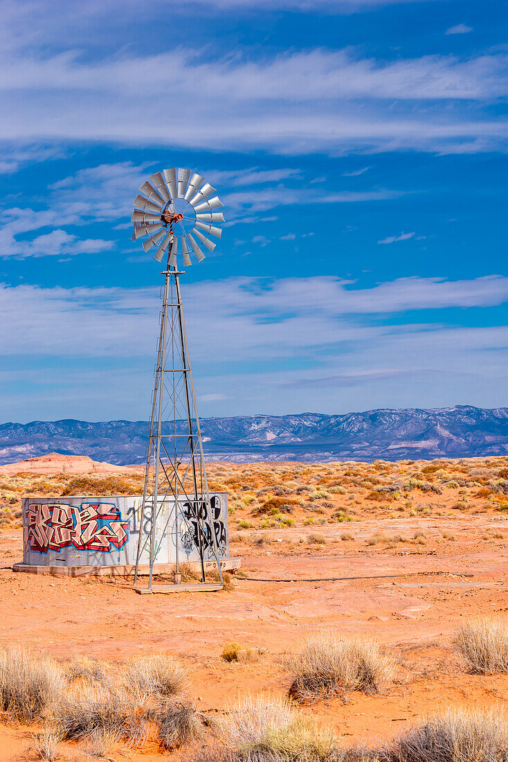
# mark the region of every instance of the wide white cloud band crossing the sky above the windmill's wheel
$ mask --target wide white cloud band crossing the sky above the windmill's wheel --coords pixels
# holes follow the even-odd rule
[[[288,154],[478,152],[503,148],[508,132],[503,119],[481,110],[506,93],[503,53],[386,62],[350,50],[310,50],[203,61],[181,49],[104,59],[30,49],[0,63],[0,139]],[[161,91],[165,98],[155,98]],[[449,109],[450,100],[464,102]],[[430,103],[415,108],[418,101]]]

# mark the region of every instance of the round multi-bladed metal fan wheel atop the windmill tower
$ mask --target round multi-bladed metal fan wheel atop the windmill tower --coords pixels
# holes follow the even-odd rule
[[[168,252],[171,267],[177,267],[181,253],[184,265],[191,264],[190,254],[198,261],[205,258],[201,247],[213,251],[216,243],[210,236],[220,238],[223,223],[222,201],[216,189],[205,178],[184,168],[164,169],[146,180],[133,201],[133,240],[147,236],[145,251],[155,247],[159,262]],[[179,249],[181,248],[181,252]]]

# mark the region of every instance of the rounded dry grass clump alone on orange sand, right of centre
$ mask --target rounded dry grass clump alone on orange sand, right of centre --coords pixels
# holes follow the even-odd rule
[[[299,702],[311,702],[340,691],[379,693],[393,678],[395,665],[375,641],[323,633],[307,639],[291,669],[289,694]]]

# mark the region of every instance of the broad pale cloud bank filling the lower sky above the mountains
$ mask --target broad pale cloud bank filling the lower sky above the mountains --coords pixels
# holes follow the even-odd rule
[[[197,392],[214,397],[212,415],[502,404],[506,326],[387,318],[504,303],[506,277],[415,277],[367,289],[334,277],[234,278],[183,283],[183,296]],[[93,409],[109,419],[145,418],[159,306],[158,288],[0,288],[0,322],[9,325],[0,334],[2,367],[9,355],[30,357],[19,381],[40,389],[30,414],[20,396],[20,415],[90,418]],[[13,373],[0,370],[0,384],[13,383]],[[0,398],[3,418],[12,418],[17,394]],[[221,405],[217,395],[228,399]]]

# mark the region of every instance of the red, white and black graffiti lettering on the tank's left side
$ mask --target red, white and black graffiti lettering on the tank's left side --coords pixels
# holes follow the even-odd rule
[[[32,503],[27,509],[26,543],[47,553],[74,546],[78,550],[120,550],[129,539],[129,521],[122,521],[114,503]]]

